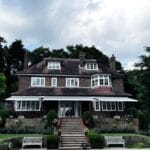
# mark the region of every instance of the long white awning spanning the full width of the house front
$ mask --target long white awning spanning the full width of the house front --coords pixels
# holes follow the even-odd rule
[[[103,96],[11,96],[7,101],[114,101],[114,102],[137,102],[129,97],[103,97]]]

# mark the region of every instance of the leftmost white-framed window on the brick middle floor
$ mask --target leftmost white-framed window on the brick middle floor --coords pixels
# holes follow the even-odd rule
[[[36,80],[39,80],[39,85],[37,84],[38,82]],[[45,77],[31,77],[31,86],[32,87],[44,87],[45,86]]]

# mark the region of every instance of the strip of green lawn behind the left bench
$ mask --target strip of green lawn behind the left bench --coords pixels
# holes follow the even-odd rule
[[[24,136],[42,136],[42,134],[0,134],[0,142],[11,138],[24,137]]]

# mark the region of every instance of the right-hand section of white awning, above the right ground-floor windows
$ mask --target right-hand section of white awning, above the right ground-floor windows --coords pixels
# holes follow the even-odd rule
[[[95,97],[95,100],[110,102],[137,102],[138,100],[129,97]]]

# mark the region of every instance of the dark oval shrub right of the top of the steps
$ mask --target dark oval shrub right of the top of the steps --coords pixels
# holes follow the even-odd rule
[[[82,116],[83,122],[84,124],[88,127],[88,128],[93,128],[95,123],[94,123],[94,118],[92,116],[92,114],[88,111],[84,112],[83,116]]]

